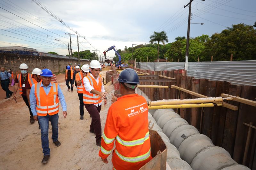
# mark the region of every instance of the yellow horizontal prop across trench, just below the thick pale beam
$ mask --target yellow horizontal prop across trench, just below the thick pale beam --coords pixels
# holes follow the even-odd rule
[[[175,109],[175,108],[196,108],[196,107],[214,107],[222,106],[222,104],[201,103],[201,104],[182,104],[182,105],[162,105],[149,106],[148,109]]]

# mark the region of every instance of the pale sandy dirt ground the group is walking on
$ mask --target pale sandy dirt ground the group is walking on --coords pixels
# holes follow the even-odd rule
[[[109,70],[104,68],[104,70]],[[103,74],[105,71],[102,71]],[[79,98],[74,92],[67,91],[64,75],[57,75],[60,88],[67,103],[67,118],[59,112],[59,141],[61,146],[52,143],[52,127],[49,125],[49,145],[51,157],[43,165],[41,133],[38,123],[29,123],[29,111],[21,96],[17,103],[12,98],[3,99],[5,93],[1,89],[0,101],[0,169],[112,169],[112,153],[108,157],[108,164],[104,164],[98,156],[100,147],[96,145],[95,135],[89,132],[91,118],[84,108],[84,120],[80,120]],[[110,83],[110,84],[109,84]],[[108,108],[111,105],[113,85],[104,85],[107,94],[106,106],[100,111],[102,132],[105,126]],[[4,96],[3,96],[3,95]],[[2,100],[3,99],[3,100]]]

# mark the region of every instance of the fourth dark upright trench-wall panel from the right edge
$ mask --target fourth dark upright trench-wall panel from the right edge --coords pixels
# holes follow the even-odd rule
[[[209,80],[207,82],[206,95],[209,97],[215,97],[215,91],[216,91],[216,81]],[[206,135],[207,137],[211,137],[212,115],[213,115],[213,108],[211,107],[204,108],[203,134]]]

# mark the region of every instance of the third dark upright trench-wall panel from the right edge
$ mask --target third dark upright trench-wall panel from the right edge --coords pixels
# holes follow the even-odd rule
[[[215,97],[219,97],[222,92],[228,93],[229,84],[227,81],[217,81]],[[211,139],[216,146],[222,145],[226,112],[225,107],[213,108]]]

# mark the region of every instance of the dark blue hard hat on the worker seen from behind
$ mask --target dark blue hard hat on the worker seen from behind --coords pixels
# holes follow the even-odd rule
[[[119,82],[140,84],[139,76],[133,69],[124,69],[117,79]]]

